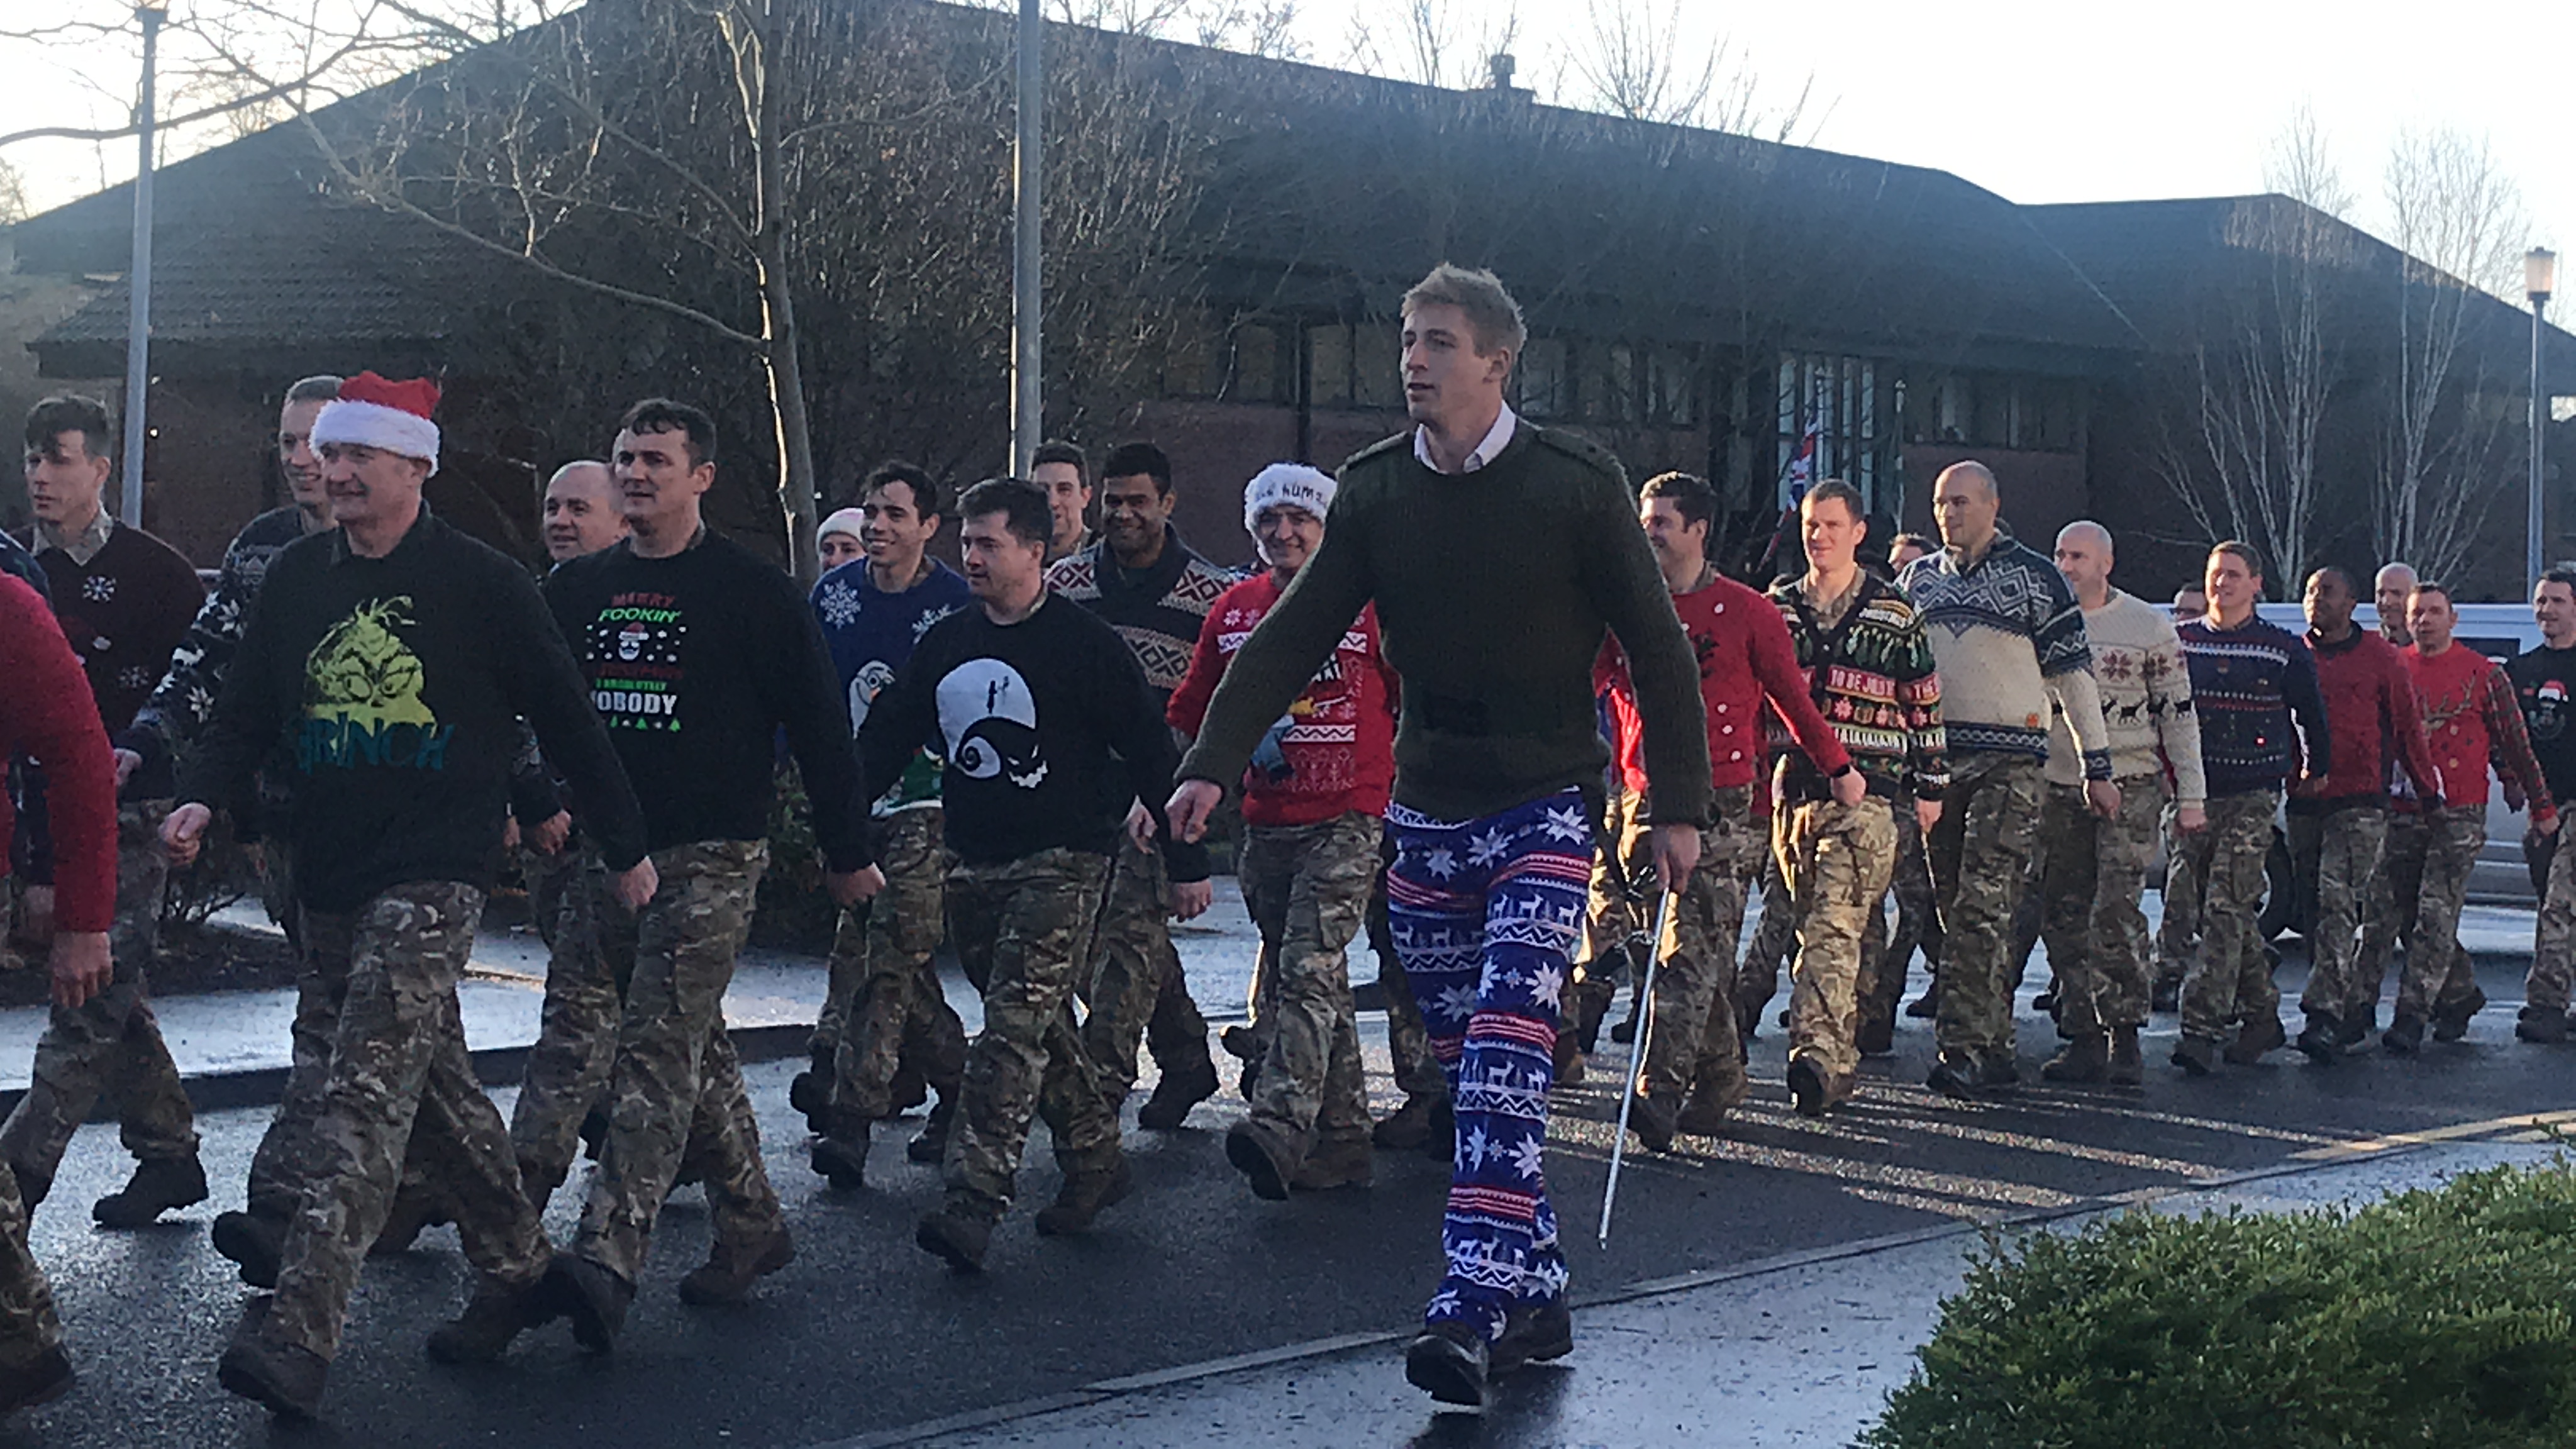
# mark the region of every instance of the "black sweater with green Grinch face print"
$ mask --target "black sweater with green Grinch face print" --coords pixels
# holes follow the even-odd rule
[[[332,529],[268,565],[178,794],[242,807],[252,768],[283,748],[304,905],[355,910],[404,882],[489,887],[520,717],[600,856],[634,866],[644,815],[536,583],[422,508],[381,559]]]

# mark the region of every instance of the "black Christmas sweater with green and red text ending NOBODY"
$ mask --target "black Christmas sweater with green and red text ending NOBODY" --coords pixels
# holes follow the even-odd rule
[[[701,531],[667,559],[639,557],[631,539],[567,559],[546,575],[546,603],[590,676],[654,851],[765,838],[783,727],[824,861],[868,864],[866,820],[850,810],[850,717],[796,580]]]

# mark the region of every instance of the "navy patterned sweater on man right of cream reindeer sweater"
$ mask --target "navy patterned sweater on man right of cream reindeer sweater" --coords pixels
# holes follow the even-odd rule
[[[2300,773],[2326,779],[2334,740],[2308,645],[2251,614],[2236,629],[2221,629],[2208,616],[2184,619],[2174,634],[2192,665],[2200,771],[2210,799],[2280,789]]]

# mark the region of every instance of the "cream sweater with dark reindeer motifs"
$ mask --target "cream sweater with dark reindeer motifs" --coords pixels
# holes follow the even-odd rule
[[[2102,691],[2110,776],[2169,773],[2179,804],[2205,802],[2200,714],[2192,709],[2192,668],[2182,660],[2174,616],[2115,588],[2102,608],[2084,611],[2084,639]],[[2084,779],[2066,714],[2048,727],[2048,779],[2050,784]]]

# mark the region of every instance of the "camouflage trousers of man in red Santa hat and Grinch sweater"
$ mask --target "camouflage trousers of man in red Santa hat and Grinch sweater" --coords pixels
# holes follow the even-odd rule
[[[384,1230],[404,1152],[420,1152],[456,1212],[466,1261],[526,1287],[549,1261],[518,1189],[510,1134],[474,1080],[456,980],[474,954],[482,892],[459,882],[392,887],[355,913],[304,913],[304,949],[348,980],[312,1176],[286,1227],[268,1338],[330,1359],[368,1245]]]

